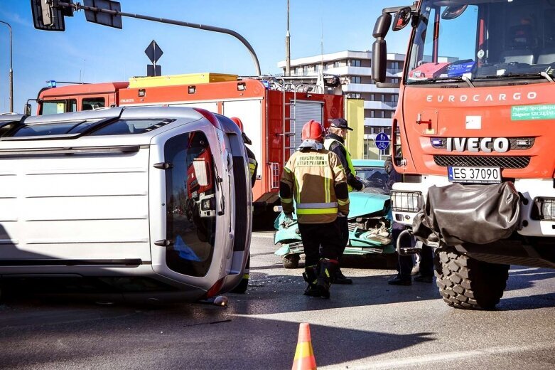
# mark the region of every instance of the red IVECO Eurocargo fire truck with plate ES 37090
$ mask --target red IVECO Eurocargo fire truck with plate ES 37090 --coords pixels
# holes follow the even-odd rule
[[[375,25],[379,87],[389,87],[389,26],[411,28],[392,122],[404,178],[394,221],[436,247],[453,307],[495,307],[510,264],[555,268],[552,14],[548,0],[419,0]]]

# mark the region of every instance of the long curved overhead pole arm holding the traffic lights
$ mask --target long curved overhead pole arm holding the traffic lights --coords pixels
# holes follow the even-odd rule
[[[183,27],[190,27],[190,28],[198,28],[205,31],[212,31],[218,33],[226,33],[227,35],[233,36],[237,38],[237,40],[241,41],[245,47],[247,47],[249,53],[251,54],[252,60],[254,61],[254,67],[257,69],[257,75],[262,75],[260,72],[260,63],[258,61],[257,54],[254,53],[254,49],[252,48],[249,41],[246,38],[239,35],[239,33],[230,30],[228,28],[221,28],[215,26],[208,26],[206,24],[199,24],[199,23],[189,23],[189,22],[182,22],[182,21],[174,21],[173,19],[166,19],[166,18],[157,18],[153,16],[142,16],[141,14],[131,14],[131,13],[124,13],[123,11],[116,11],[110,9],[102,9],[102,8],[95,8],[92,6],[84,6],[81,4],[69,4],[65,2],[58,2],[58,7],[61,8],[73,8],[75,10],[86,10],[86,11],[94,11],[96,13],[104,13],[110,14],[112,16],[126,16],[129,18],[137,18],[137,19],[144,19],[145,21],[153,21],[158,23],[166,23],[166,24],[173,24],[175,26],[183,26]]]

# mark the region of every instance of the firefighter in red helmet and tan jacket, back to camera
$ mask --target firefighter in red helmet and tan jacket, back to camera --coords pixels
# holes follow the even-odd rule
[[[349,191],[340,159],[323,147],[322,124],[308,121],[302,139],[284,166],[279,196],[286,216],[291,218],[296,208],[306,255],[303,277],[308,287],[304,294],[328,298],[330,277],[338,268],[338,253],[343,248],[338,216],[349,213]]]

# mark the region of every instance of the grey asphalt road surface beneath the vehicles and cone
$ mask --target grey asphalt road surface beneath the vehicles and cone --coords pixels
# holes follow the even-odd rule
[[[354,285],[302,295],[271,233],[255,233],[251,286],[227,308],[98,305],[33,295],[0,305],[1,369],[290,369],[298,323],[320,369],[555,369],[555,270],[513,266],[495,311],[455,310],[435,284],[387,285],[360,258]]]

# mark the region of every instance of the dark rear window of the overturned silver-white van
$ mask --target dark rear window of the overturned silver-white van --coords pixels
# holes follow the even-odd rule
[[[215,171],[203,132],[182,134],[166,142],[166,264],[177,273],[208,273],[216,233]]]

